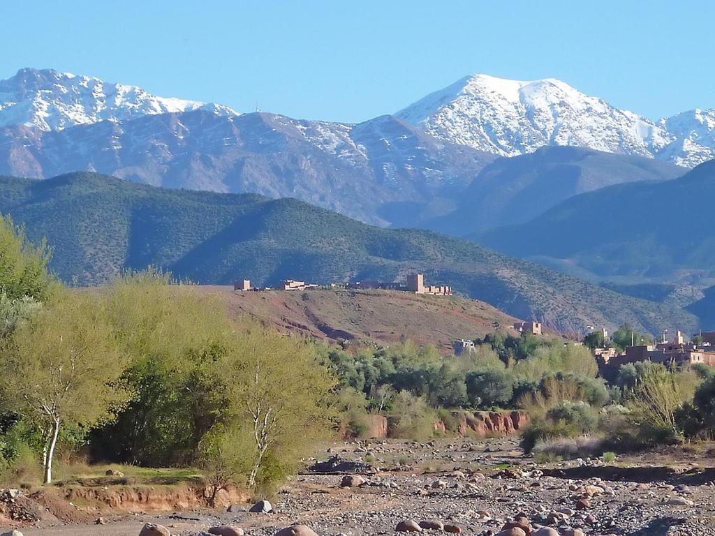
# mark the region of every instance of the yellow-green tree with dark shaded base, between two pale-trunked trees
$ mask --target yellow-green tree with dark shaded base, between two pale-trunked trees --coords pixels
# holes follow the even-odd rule
[[[116,420],[92,433],[93,454],[141,465],[192,462],[225,405],[209,375],[230,337],[225,305],[152,270],[118,279],[107,303],[129,357],[121,384],[130,397]]]

